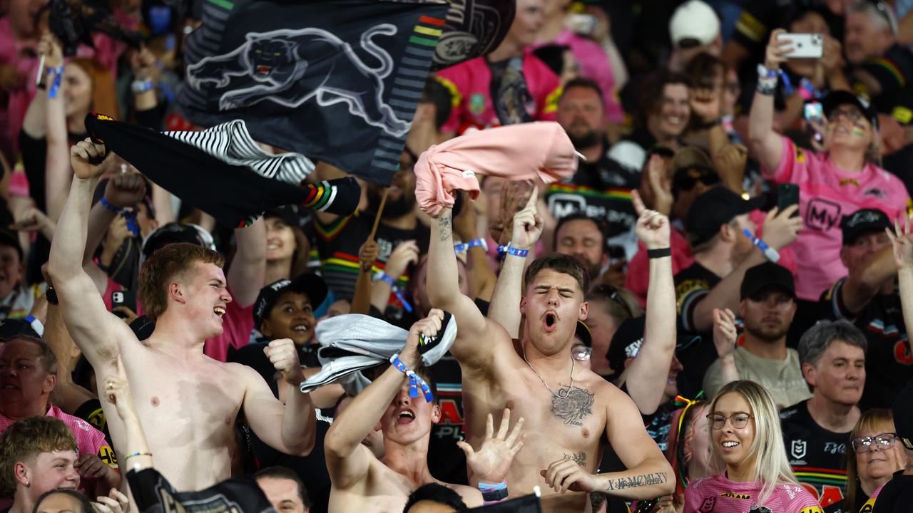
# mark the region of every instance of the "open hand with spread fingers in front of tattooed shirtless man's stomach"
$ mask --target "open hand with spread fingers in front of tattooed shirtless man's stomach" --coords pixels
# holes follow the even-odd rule
[[[510,464],[519,450],[523,448],[523,442],[526,438],[522,434],[523,417],[520,417],[517,424],[514,424],[510,434],[508,434],[508,425],[510,424],[510,410],[504,409],[501,415],[501,424],[498,428],[498,434],[495,435],[494,421],[491,414],[485,424],[485,440],[482,441],[481,448],[478,452],[473,450],[472,445],[466,442],[456,442],[459,448],[466,453],[467,465],[472,468],[472,472],[478,477],[479,481],[484,483],[500,483],[503,481],[510,469]]]

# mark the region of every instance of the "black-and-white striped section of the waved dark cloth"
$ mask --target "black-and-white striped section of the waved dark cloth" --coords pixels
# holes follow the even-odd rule
[[[301,153],[271,155],[257,146],[244,120],[232,120],[205,131],[165,131],[165,135],[191,144],[220,161],[243,165],[267,178],[299,184],[314,171],[314,162]]]

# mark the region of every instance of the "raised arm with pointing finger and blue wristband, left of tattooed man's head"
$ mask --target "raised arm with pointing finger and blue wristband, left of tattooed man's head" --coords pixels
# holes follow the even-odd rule
[[[530,199],[526,206],[513,215],[509,226],[511,228],[510,246],[519,249],[529,249],[536,245],[542,234],[542,220],[537,212],[538,190],[533,187]],[[519,312],[519,300],[523,287],[523,269],[526,267],[526,258],[506,255],[495,292],[491,295],[491,306],[488,308],[488,319],[498,322],[510,337],[519,337],[519,325],[522,316]]]

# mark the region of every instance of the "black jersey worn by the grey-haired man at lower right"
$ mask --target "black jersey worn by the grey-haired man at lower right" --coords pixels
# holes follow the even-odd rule
[[[828,431],[814,422],[808,401],[780,412],[783,443],[792,472],[799,482],[828,508],[846,493],[846,447],[850,434]]]

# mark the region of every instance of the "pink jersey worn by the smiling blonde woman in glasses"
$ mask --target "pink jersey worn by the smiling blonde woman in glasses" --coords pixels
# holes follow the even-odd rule
[[[812,494],[799,485],[778,485],[758,504],[760,481],[737,483],[722,474],[703,477],[685,489],[685,513],[824,513]]]

